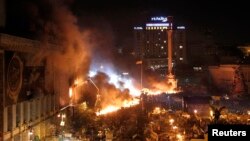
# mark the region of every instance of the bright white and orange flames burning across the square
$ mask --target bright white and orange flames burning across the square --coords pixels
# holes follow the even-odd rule
[[[172,84],[167,84],[165,83],[165,81],[152,82],[151,83],[151,86],[153,87],[152,89],[140,90],[139,84],[136,81],[134,81],[133,78],[131,78],[129,73],[123,72],[121,74],[118,74],[114,71],[115,69],[113,69],[113,67],[110,65],[99,65],[99,66],[100,67],[97,66],[93,67],[92,64],[91,71],[89,71],[89,77],[95,77],[98,74],[98,72],[102,72],[108,76],[109,84],[114,85],[117,89],[121,90],[121,92],[125,89],[128,89],[129,95],[132,96],[132,98],[112,99],[110,97],[110,101],[108,100],[106,103],[104,102],[102,104],[101,109],[99,109],[99,111],[96,112],[97,116],[113,113],[122,108],[129,108],[138,105],[140,103],[140,100],[135,97],[138,97],[141,95],[141,93],[144,93],[145,92],[144,90],[146,90],[146,94],[148,95],[158,95],[162,93],[174,94],[178,92],[177,90],[174,89],[175,87],[172,86]],[[100,94],[102,95],[102,92],[100,92]]]

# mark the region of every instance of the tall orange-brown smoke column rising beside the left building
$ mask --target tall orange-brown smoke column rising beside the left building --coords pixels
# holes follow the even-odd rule
[[[40,7],[39,7],[40,6]],[[38,64],[46,60],[46,89],[60,95],[60,103],[67,104],[68,88],[75,77],[85,77],[91,59],[90,30],[80,30],[77,18],[62,1],[41,1],[36,9],[33,27],[41,37],[40,51],[31,60]],[[46,7],[45,10],[43,7]]]

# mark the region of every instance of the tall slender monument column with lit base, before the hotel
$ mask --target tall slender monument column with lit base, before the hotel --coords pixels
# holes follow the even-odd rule
[[[174,92],[177,89],[177,80],[172,74],[172,49],[173,49],[173,30],[172,27],[167,30],[168,34],[168,72],[167,72],[167,84],[170,86],[171,90],[169,92]]]

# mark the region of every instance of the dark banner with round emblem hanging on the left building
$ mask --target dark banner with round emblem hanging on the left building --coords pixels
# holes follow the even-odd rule
[[[5,52],[5,106],[44,94],[44,66],[26,66],[31,59],[27,56],[27,53]]]

